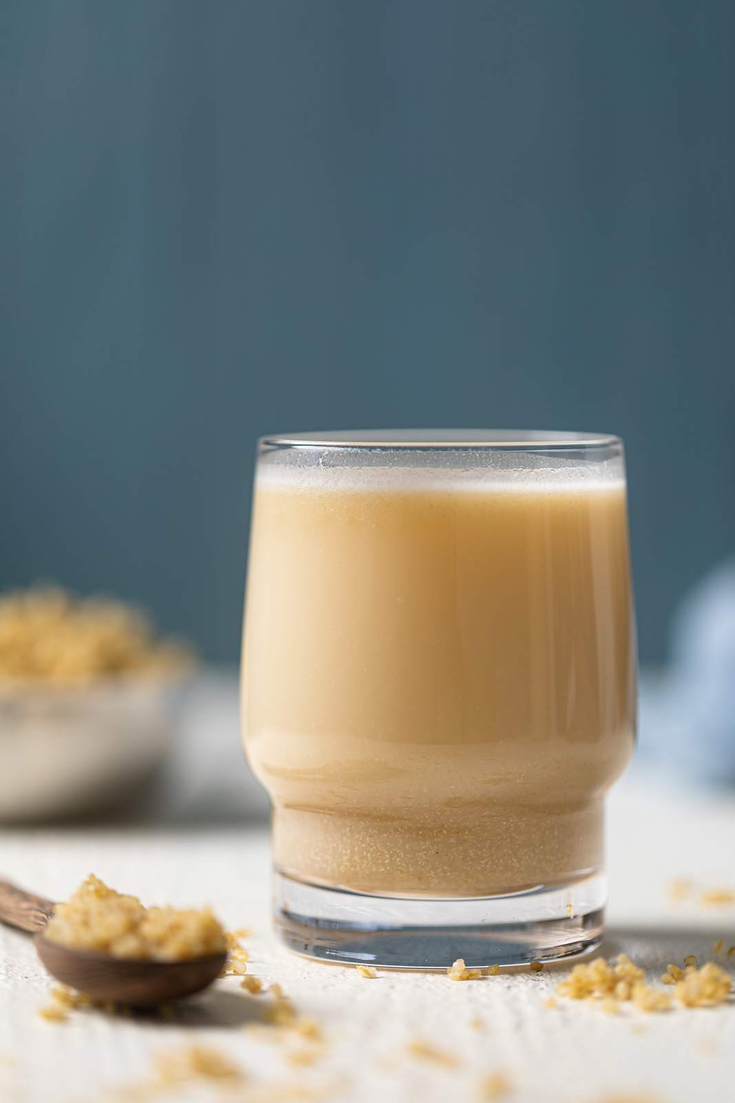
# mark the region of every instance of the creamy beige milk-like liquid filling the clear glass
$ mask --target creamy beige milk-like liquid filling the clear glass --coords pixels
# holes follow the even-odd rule
[[[274,858],[368,892],[601,868],[634,745],[623,482],[261,478],[244,732]]]

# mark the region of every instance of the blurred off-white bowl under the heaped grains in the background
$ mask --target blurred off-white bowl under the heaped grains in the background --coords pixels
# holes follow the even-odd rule
[[[170,682],[0,690],[0,821],[78,815],[121,802],[172,737]]]

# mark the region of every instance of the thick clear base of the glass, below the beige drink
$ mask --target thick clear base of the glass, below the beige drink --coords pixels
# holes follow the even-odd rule
[[[607,881],[467,899],[374,896],[274,871],[275,931],[306,957],[385,968],[445,970],[554,961],[594,949],[604,930]]]

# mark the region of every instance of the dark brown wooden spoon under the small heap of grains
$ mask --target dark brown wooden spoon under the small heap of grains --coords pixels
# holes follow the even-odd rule
[[[52,976],[102,1003],[150,1007],[191,996],[212,984],[227,960],[224,952],[180,962],[155,962],[69,950],[43,938],[53,913],[52,900],[0,881],[0,920],[35,935],[39,957]]]

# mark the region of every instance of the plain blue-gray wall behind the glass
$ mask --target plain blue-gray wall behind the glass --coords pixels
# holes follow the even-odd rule
[[[641,655],[735,550],[732,0],[0,4],[0,588],[239,645],[255,441],[626,439]]]

